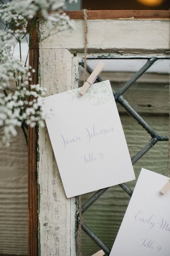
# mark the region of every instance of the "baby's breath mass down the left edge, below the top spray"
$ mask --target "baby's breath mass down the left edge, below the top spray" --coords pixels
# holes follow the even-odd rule
[[[31,67],[25,67],[24,63],[16,60],[11,54],[11,46],[15,40],[10,31],[0,30],[0,133],[1,144],[8,145],[11,136],[16,136],[16,126],[26,125],[34,127],[36,124],[43,126],[43,114],[40,106],[41,96],[45,95],[45,89],[39,84],[30,85]],[[23,79],[28,80],[23,82]],[[16,91],[10,90],[11,82],[16,83]],[[10,91],[10,93],[8,93]],[[29,98],[32,97],[31,100]]]

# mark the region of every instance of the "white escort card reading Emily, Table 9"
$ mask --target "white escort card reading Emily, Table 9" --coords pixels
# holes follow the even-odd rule
[[[110,256],[169,256],[170,191],[167,177],[142,169]]]

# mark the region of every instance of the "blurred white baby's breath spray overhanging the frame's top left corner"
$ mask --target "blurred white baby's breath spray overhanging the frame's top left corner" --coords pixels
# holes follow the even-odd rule
[[[69,0],[69,3],[77,2],[77,0]],[[36,15],[41,15],[48,22],[50,29],[58,26],[58,29],[66,29],[73,27],[73,22],[69,17],[61,12],[64,9],[64,1],[62,0],[12,0],[8,3],[0,5],[0,17],[7,24],[14,23],[14,35],[26,33],[27,20],[32,19]]]

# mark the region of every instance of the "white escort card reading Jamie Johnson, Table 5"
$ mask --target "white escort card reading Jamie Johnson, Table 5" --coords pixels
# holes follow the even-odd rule
[[[67,198],[135,179],[109,80],[42,99]]]

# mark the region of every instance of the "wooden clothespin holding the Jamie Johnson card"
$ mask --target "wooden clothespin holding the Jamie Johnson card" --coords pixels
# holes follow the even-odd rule
[[[87,91],[87,89],[90,87],[90,85],[92,85],[94,83],[95,79],[102,72],[104,67],[105,67],[105,64],[100,61],[99,64],[93,70],[92,74],[88,77],[87,81],[81,87],[81,89],[79,91],[79,93],[81,93],[81,95],[84,95],[84,93]]]

